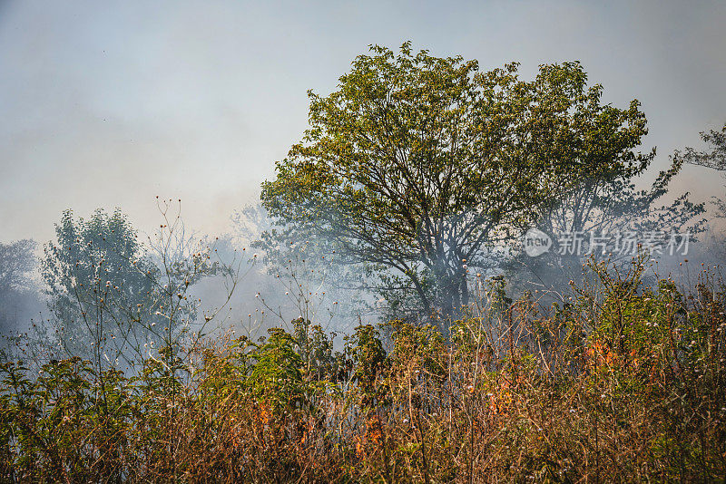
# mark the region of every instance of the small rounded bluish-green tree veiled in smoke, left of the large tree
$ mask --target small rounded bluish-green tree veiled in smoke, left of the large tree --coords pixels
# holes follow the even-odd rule
[[[96,210],[88,220],[65,210],[56,241],[44,247],[41,274],[49,309],[65,354],[99,360],[99,348],[115,360],[142,347],[163,309],[155,266],[128,218]],[[103,331],[111,334],[106,336]],[[97,362],[99,363],[99,362]]]

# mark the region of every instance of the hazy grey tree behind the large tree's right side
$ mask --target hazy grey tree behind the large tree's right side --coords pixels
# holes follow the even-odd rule
[[[622,250],[624,238],[634,234],[635,240],[643,241],[648,234],[663,236],[657,240],[664,246],[675,234],[681,245],[683,237],[691,237],[688,233],[695,236],[701,232],[702,203],[693,203],[689,194],[684,193],[670,204],[662,204],[672,179],[682,169],[682,160],[674,158],[671,168],[662,171],[649,189],[635,189],[635,181],[645,174],[651,160],[652,156],[643,157],[642,163],[630,170],[594,171],[572,189],[543,204],[535,226],[552,237],[554,245],[538,257],[519,252],[505,263],[517,289],[540,288],[565,295],[569,292],[569,281],[578,281],[583,276],[583,264],[591,256],[611,258],[617,266],[630,265],[633,254]],[[582,236],[578,252],[573,247],[557,246],[558,237],[570,236]],[[591,245],[591,237],[599,237],[596,247]],[[617,237],[621,237],[619,241]]]

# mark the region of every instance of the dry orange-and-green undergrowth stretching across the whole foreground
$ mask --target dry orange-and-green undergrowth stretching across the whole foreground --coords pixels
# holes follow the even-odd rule
[[[726,475],[723,286],[603,266],[571,304],[501,287],[447,328],[301,319],[128,377],[0,367],[3,480],[711,481]],[[187,354],[187,353],[185,353]]]

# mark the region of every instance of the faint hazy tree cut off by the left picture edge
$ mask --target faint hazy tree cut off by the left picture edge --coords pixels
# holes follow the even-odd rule
[[[24,239],[9,244],[0,243],[0,333],[18,328],[28,293],[32,292],[36,260],[35,242]]]

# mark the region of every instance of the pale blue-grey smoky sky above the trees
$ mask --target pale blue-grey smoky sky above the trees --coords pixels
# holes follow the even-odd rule
[[[655,169],[726,121],[726,2],[260,4],[0,0],[0,241],[47,240],[64,208],[151,230],[156,195],[225,231],[299,140],[306,91],[333,90],[368,44],[525,78],[579,60],[607,102],[643,102]],[[723,192],[704,169],[678,183]]]

